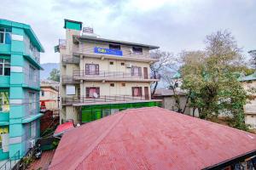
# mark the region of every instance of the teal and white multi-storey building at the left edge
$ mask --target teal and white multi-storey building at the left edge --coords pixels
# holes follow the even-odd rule
[[[42,52],[31,26],[0,19],[0,161],[25,156],[39,137]]]

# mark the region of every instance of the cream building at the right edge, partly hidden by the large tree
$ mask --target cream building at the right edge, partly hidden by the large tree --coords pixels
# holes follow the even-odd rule
[[[250,93],[250,89],[256,90],[256,72],[247,77],[240,77],[239,81],[247,94],[251,95],[251,99],[247,100],[247,105],[244,105],[245,122],[250,125],[250,128],[256,129],[256,94]]]

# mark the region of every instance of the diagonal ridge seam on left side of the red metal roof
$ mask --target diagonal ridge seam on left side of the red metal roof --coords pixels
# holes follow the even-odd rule
[[[113,129],[113,127],[115,127],[125,116],[125,113],[123,113],[122,116],[119,116],[117,118],[117,120],[115,122],[113,122],[113,124],[108,127],[108,129],[105,131],[105,133],[102,133],[102,135],[100,135],[97,139],[96,142],[91,144],[90,147],[84,152],[83,156],[80,156],[80,159],[78,159],[77,161],[75,161],[73,163],[73,166],[71,167],[71,169],[77,169],[77,167],[79,166],[79,164],[84,161],[85,158],[87,158],[90,153],[92,152],[92,150],[95,150],[96,146],[98,146],[103,139],[106,138],[106,136],[108,135],[108,133],[111,132],[111,130]]]

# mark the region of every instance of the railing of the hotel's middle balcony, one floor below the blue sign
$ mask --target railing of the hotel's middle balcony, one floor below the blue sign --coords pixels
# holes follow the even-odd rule
[[[121,71],[89,71],[84,70],[74,70],[74,79],[141,79],[148,80],[151,77],[144,77],[142,74],[131,74],[131,72],[121,72]]]

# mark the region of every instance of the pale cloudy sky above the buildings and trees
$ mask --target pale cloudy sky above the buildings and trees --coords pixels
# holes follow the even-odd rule
[[[256,0],[1,0],[0,19],[32,26],[45,49],[41,63],[59,62],[54,46],[65,38],[64,19],[174,54],[204,49],[207,35],[226,29],[243,54],[256,49]]]

